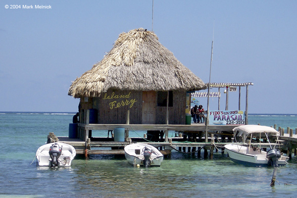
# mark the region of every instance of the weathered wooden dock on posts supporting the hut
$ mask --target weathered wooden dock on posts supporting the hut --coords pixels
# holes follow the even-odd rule
[[[78,134],[79,138],[71,139],[69,137],[55,137],[53,133],[48,136],[48,142],[61,142],[65,144],[72,145],[77,154],[85,155],[88,157],[90,154],[120,154],[123,155],[124,147],[132,143],[144,143],[152,145],[167,156],[171,155],[171,150],[175,149],[180,152],[189,153],[194,155],[197,153],[200,157],[201,149],[204,150],[204,158],[208,157],[212,159],[214,149],[218,151],[218,148],[222,148],[222,153],[224,153],[224,145],[232,144],[233,139],[226,138],[226,133],[232,136],[231,131],[235,127],[234,125],[229,126],[208,126],[209,137],[205,141],[206,130],[204,124],[192,124],[192,125],[107,125],[107,124],[80,124],[80,127],[85,130],[80,130],[81,133]],[[115,128],[124,128],[125,131],[166,131],[164,133],[165,138],[160,139],[159,142],[146,142],[145,138],[128,138],[125,142],[114,142],[114,138],[105,137],[89,137],[90,130],[114,130]],[[181,132],[179,137],[168,138],[168,131],[178,131]],[[183,135],[182,135],[183,134]],[[185,135],[186,134],[186,135]],[[189,141],[189,136],[192,136]],[[197,135],[200,134],[200,137]],[[127,135],[127,134],[126,134]],[[227,134],[228,135],[228,134]],[[186,137],[185,137],[186,136]],[[188,137],[187,137],[188,136]],[[201,137],[202,136],[202,137]],[[86,141],[84,141],[86,138]],[[166,141],[167,138],[167,141]],[[297,134],[293,134],[292,130],[289,134],[281,133],[281,136],[271,141],[272,145],[280,146],[283,152],[286,152],[289,157],[292,157],[292,152],[297,155]],[[269,148],[269,143],[261,143],[261,148]]]

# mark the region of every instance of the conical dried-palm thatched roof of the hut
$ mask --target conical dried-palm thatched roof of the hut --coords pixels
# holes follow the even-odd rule
[[[120,34],[104,58],[72,83],[68,95],[99,97],[108,89],[189,91],[205,88],[202,80],[162,46],[153,32],[141,28]]]

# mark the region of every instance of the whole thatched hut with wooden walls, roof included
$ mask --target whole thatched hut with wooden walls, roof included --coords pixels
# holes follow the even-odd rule
[[[185,124],[187,91],[205,88],[153,32],[141,28],[120,34],[68,95],[80,98],[81,123],[92,109],[98,124],[125,124],[127,112],[130,124],[165,124],[166,116],[166,124]]]

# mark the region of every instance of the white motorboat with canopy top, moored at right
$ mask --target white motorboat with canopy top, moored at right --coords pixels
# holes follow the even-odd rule
[[[234,137],[242,136],[243,143],[245,143],[246,138],[250,135],[250,139],[248,141],[247,146],[243,146],[242,144],[230,144],[225,145],[226,151],[230,157],[230,159],[236,163],[249,165],[249,166],[283,166],[287,164],[289,157],[284,156],[280,153],[278,148],[272,148],[272,144],[270,144],[268,137],[271,135],[280,135],[278,131],[274,128],[260,125],[242,125],[239,127],[235,127],[233,129]],[[257,136],[261,140],[264,135],[264,138],[267,138],[267,141],[270,145],[270,149],[266,151],[261,150],[261,142],[257,143],[258,146],[251,143],[252,137]],[[275,147],[276,145],[274,145]]]

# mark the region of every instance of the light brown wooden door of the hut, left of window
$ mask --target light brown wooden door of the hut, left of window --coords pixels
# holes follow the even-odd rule
[[[143,124],[155,124],[156,122],[156,92],[149,91],[143,92],[143,112],[142,123]]]

